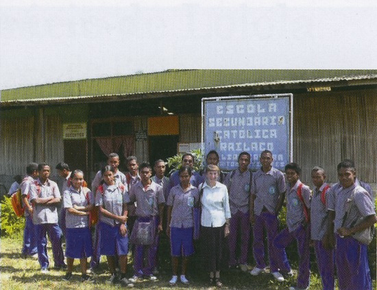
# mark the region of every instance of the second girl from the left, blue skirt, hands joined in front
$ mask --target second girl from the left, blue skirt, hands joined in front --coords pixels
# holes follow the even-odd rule
[[[130,202],[127,189],[121,182],[115,182],[114,168],[106,165],[102,170],[104,184],[97,188],[95,205],[99,207],[99,229],[101,231],[101,254],[106,255],[110,271],[110,284],[119,282],[115,272],[116,259],[119,259],[121,285],[134,285],[125,276],[127,271],[128,235],[127,202]]]

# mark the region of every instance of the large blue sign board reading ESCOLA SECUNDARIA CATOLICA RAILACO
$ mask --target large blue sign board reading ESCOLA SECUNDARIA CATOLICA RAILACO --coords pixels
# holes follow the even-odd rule
[[[203,99],[204,153],[219,153],[219,167],[238,167],[241,152],[249,152],[250,168],[260,167],[260,153],[273,154],[273,167],[284,169],[291,157],[291,94]]]

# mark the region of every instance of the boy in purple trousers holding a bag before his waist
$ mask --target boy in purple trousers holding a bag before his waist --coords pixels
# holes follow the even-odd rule
[[[135,245],[134,250],[134,276],[131,282],[136,282],[142,276],[149,280],[157,280],[153,274],[156,266],[159,236],[162,232],[162,220],[165,206],[165,198],[162,186],[151,181],[151,166],[142,163],[139,167],[141,181],[130,189],[130,202],[136,202],[136,221],[132,230],[131,241]],[[143,226],[149,229],[148,237],[151,241],[142,241]],[[143,261],[146,257],[146,264]]]

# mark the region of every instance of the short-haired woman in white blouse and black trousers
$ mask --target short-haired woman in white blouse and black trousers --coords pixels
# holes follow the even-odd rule
[[[216,165],[206,167],[206,181],[199,186],[202,205],[201,237],[204,261],[210,271],[210,282],[222,287],[220,280],[223,239],[229,234],[230,207],[228,189],[217,182],[220,169]]]

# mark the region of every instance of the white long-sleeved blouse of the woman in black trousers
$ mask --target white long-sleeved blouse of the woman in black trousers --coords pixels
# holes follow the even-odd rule
[[[202,189],[201,185],[199,185],[199,191],[200,189]],[[201,224],[206,227],[219,228],[226,223],[226,219],[230,219],[228,189],[220,182],[216,182],[213,187],[204,182],[203,189]]]

